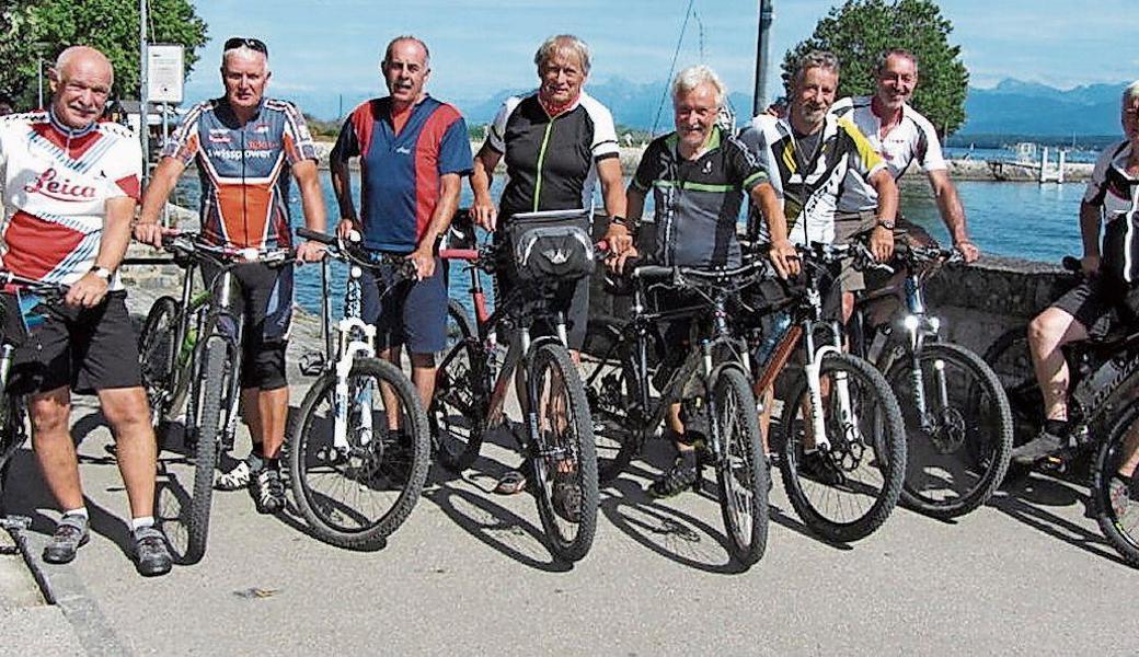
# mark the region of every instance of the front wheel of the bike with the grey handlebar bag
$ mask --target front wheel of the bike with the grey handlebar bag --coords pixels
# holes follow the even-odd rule
[[[526,381],[536,403],[531,457],[542,528],[555,557],[579,561],[597,531],[597,452],[585,389],[565,347],[552,343],[534,347]]]

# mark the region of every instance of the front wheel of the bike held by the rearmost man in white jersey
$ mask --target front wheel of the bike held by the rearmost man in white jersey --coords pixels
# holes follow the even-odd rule
[[[1013,450],[1008,399],[992,369],[965,347],[926,344],[917,372],[913,367],[907,354],[886,372],[906,424],[901,499],[936,518],[962,516],[989,500],[1005,478]]]

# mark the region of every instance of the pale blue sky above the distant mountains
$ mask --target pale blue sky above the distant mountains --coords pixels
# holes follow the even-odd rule
[[[187,100],[221,92],[218,66],[229,36],[269,44],[270,93],[284,98],[380,93],[387,41],[415,34],[432,50],[436,98],[482,99],[536,85],[533,54],[549,35],[590,44],[593,81],[663,81],[689,0],[191,0],[211,38],[187,82]],[[730,90],[749,93],[757,0],[691,0],[678,67],[704,63]],[[775,0],[771,56],[805,39],[835,0]],[[1133,16],[1139,0],[943,0],[973,87],[1006,77],[1060,89],[1139,77]],[[1093,10],[1081,10],[1080,8]],[[703,39],[700,38],[703,34]],[[769,74],[769,93],[778,73]],[[587,85],[588,88],[588,85]]]

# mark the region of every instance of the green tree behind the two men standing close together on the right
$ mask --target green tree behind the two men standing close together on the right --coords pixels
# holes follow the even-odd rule
[[[904,48],[918,58],[919,82],[912,105],[943,134],[965,123],[969,73],[961,63],[961,47],[951,46],[953,25],[933,0],[846,0],[821,18],[805,41],[784,57],[784,80],[794,61],[810,50],[838,56],[842,73],[838,96],[874,93],[874,65],[878,55]]]

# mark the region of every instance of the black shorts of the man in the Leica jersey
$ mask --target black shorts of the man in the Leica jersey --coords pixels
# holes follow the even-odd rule
[[[118,290],[95,307],[60,304],[47,311],[13,356],[8,391],[36,394],[69,386],[92,394],[141,385],[138,338],[126,293]]]

